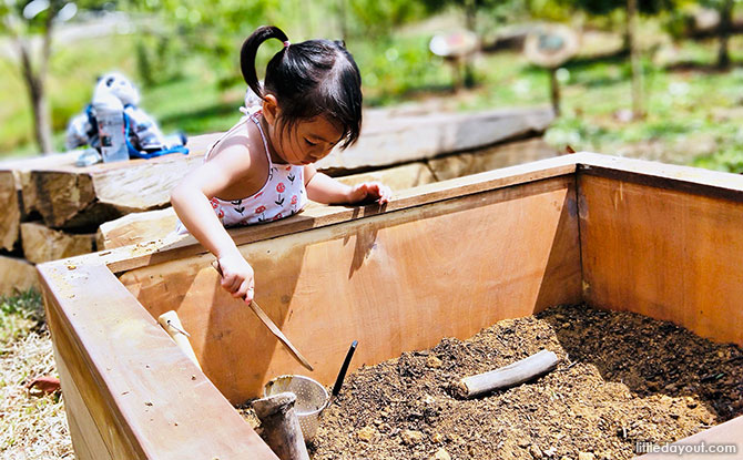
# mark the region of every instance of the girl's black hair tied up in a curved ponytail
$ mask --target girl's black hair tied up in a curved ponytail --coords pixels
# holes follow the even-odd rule
[[[284,45],[268,61],[264,88],[261,88],[255,72],[255,54],[261,43],[268,39],[288,42],[277,27],[259,27],[243,43],[240,67],[255,94],[261,99],[267,93],[276,96],[282,110],[282,129],[323,115],[342,127],[340,149],[356,142],[362,131],[362,75],[345,44],[333,40],[307,40]]]

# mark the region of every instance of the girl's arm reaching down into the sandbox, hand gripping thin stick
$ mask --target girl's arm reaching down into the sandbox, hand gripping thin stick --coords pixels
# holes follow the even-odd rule
[[[183,225],[216,256],[222,269],[222,287],[233,297],[245,297],[245,301],[253,299],[253,268],[222,226],[210,197],[217,196],[234,181],[244,177],[250,163],[247,147],[228,146],[186,175],[171,192],[171,203]]]

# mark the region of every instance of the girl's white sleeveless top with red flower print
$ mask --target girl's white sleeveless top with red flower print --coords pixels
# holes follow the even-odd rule
[[[274,164],[268,153],[266,135],[263,132],[259,121],[261,111],[254,111],[241,119],[230,131],[224,133],[206,152],[204,161],[214,149],[227,135],[235,130],[245,126],[251,120],[258,127],[263,139],[263,147],[268,159],[268,178],[263,187],[252,196],[242,200],[221,200],[213,197],[210,200],[214,213],[225,227],[236,225],[252,225],[265,222],[277,221],[298,213],[307,204],[307,191],[304,183],[304,166],[291,164]],[[189,231],[179,222],[177,233],[183,234]]]

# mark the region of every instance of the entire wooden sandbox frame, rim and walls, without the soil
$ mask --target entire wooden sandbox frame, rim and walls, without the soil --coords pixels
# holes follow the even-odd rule
[[[282,374],[332,384],[354,339],[353,365],[374,365],[587,303],[743,345],[741,228],[741,176],[579,153],[232,231],[256,300],[314,372],[190,237],[38,270],[79,459],[275,459],[232,405]],[[157,325],[171,309],[203,372]],[[700,440],[743,458],[743,417],[683,442]]]

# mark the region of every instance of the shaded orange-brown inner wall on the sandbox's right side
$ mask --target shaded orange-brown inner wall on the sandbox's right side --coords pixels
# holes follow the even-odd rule
[[[590,168],[578,191],[589,304],[743,345],[743,192]]]

